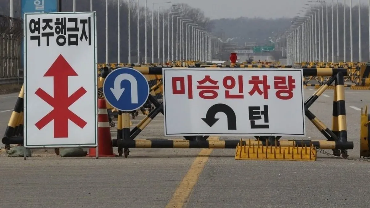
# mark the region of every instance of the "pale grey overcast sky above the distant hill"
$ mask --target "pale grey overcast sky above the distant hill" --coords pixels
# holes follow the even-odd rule
[[[1,1],[1,0],[0,0]],[[144,0],[140,0],[145,4]],[[152,2],[164,2],[166,0],[148,0],[148,7],[151,8]],[[171,0],[169,0],[171,1]],[[305,7],[309,0],[172,0],[174,3],[186,2],[192,7],[200,8],[206,17],[211,19],[237,18],[237,17],[294,17]],[[316,0],[310,0],[316,1]],[[331,0],[327,0],[331,3]],[[349,2],[349,0],[347,0]],[[361,0],[365,5],[367,0]],[[336,0],[334,0],[334,3]],[[339,0],[343,2],[343,0]],[[352,4],[357,5],[358,0],[352,0]],[[347,3],[349,5],[349,3]]]

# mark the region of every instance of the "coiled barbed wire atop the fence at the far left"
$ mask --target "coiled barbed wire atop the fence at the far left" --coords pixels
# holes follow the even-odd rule
[[[15,38],[23,36],[23,20],[0,15],[0,34],[11,34]]]

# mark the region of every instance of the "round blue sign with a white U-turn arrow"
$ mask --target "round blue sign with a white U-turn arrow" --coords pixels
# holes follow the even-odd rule
[[[105,100],[121,111],[133,111],[145,104],[149,97],[149,84],[139,71],[133,68],[117,68],[104,80]]]

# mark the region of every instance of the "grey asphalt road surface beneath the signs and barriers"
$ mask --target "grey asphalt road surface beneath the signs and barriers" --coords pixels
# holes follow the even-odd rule
[[[308,98],[314,90],[304,92]],[[346,90],[348,139],[355,144],[350,158],[359,157],[360,108],[370,103],[369,95],[370,91]],[[16,96],[0,96],[1,135]],[[333,90],[327,90],[310,107],[329,127],[332,100]],[[324,139],[308,120],[306,130],[307,139]],[[160,115],[138,138],[162,135]],[[369,207],[369,162],[326,155],[316,162],[237,161],[234,152],[131,149],[128,158],[98,160],[1,156],[0,207]]]

